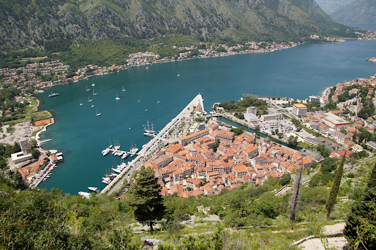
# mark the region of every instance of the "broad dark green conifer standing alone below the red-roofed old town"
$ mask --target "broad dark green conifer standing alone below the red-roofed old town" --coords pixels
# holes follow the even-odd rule
[[[141,167],[136,183],[129,191],[129,205],[133,207],[138,222],[149,224],[153,231],[153,224],[162,218],[165,206],[161,194],[161,186],[154,177],[155,171],[151,167]]]

